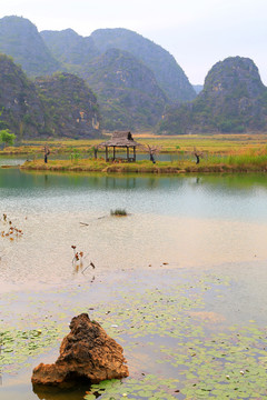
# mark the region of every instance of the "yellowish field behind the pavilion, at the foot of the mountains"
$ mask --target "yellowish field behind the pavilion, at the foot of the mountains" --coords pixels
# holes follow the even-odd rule
[[[231,151],[243,149],[256,149],[259,146],[267,146],[266,134],[185,134],[185,136],[152,136],[134,133],[135,139],[140,144],[156,146],[164,153],[184,153],[191,152],[194,148],[208,154],[228,154]],[[6,154],[40,154],[43,153],[44,144],[48,144],[51,154],[71,154],[79,152],[81,156],[93,154],[93,148],[105,139],[53,139],[53,140],[29,140],[22,141],[18,147],[7,147],[0,150],[0,156]],[[118,150],[119,151],[119,150]],[[138,149],[139,152],[144,150]],[[123,150],[125,152],[125,150]],[[99,151],[103,154],[105,150]]]

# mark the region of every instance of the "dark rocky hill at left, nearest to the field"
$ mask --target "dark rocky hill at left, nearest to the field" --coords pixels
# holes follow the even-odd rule
[[[0,54],[0,129],[18,139],[99,136],[99,107],[86,82],[59,73],[34,84],[12,59]]]

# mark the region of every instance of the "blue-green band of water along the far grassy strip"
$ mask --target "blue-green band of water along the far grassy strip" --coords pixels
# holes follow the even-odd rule
[[[266,221],[266,203],[265,176],[119,177],[0,170],[1,208],[24,213],[126,208],[132,213]]]

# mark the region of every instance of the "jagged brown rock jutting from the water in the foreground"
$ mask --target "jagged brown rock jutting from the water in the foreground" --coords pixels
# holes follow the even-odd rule
[[[53,364],[33,369],[33,386],[75,386],[81,381],[98,383],[129,376],[123,349],[87,313],[72,318],[70,333],[62,340]]]

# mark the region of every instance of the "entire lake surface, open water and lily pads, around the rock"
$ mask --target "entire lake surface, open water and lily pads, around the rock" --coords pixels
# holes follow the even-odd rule
[[[0,399],[265,398],[266,204],[265,176],[0,170]],[[130,378],[34,393],[79,312],[122,344]]]

